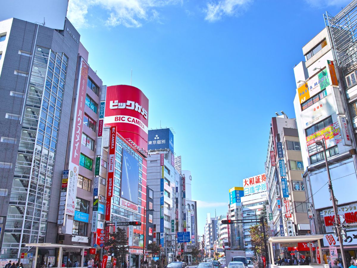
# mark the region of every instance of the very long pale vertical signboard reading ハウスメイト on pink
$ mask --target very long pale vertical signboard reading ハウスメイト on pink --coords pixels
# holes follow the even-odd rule
[[[79,158],[81,153],[81,138],[84,119],[84,106],[87,92],[89,65],[81,57],[79,66],[79,80],[77,85],[76,101],[74,107],[74,120],[71,135],[71,148],[69,155],[69,178],[67,185],[66,211],[67,215],[74,216],[74,207],[77,194],[77,179]]]

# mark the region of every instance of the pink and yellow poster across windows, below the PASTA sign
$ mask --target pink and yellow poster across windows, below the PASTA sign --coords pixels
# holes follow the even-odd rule
[[[321,146],[316,145],[316,141],[322,140],[325,143],[325,148],[331,148],[342,141],[340,125],[335,122],[320,131],[317,131],[306,137],[307,150],[310,155],[322,152]]]

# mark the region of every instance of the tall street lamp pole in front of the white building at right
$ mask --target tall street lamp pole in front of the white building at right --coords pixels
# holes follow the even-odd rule
[[[327,178],[328,178],[328,190],[330,191],[330,196],[331,196],[330,200],[332,200],[333,213],[335,214],[335,226],[336,226],[336,229],[337,229],[338,240],[340,241],[340,251],[341,251],[342,264],[343,264],[343,267],[347,267],[346,259],[345,259],[345,251],[343,249],[343,240],[342,240],[342,235],[341,235],[341,225],[338,223],[338,211],[337,211],[337,205],[336,205],[337,204],[337,200],[335,198],[335,195],[333,194],[331,175],[330,175],[330,168],[328,167],[325,143],[322,140],[318,140],[317,142],[315,142],[315,144],[316,145],[320,145],[322,147],[323,154],[325,156],[325,164],[326,164],[326,171],[327,171]]]

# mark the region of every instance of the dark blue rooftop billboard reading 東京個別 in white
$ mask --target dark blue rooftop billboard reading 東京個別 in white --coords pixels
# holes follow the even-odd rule
[[[174,134],[169,128],[152,129],[148,131],[148,150],[170,149],[174,152]]]

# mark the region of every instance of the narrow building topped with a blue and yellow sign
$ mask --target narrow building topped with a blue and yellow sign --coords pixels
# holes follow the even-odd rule
[[[243,187],[229,189],[228,218],[232,220],[242,219],[241,198],[244,196]],[[224,248],[240,250],[243,248],[243,224],[233,223],[228,225],[228,237]],[[228,242],[228,243],[227,243]]]

